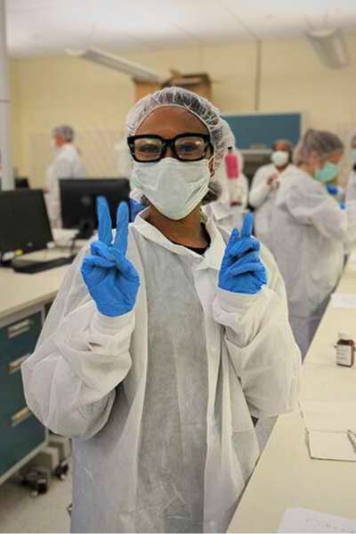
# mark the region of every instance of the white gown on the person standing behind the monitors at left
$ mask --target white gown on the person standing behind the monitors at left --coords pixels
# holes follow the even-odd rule
[[[61,228],[60,183],[62,178],[83,178],[85,168],[76,147],[67,142],[55,154],[53,163],[47,168],[45,195],[46,206],[53,228]]]

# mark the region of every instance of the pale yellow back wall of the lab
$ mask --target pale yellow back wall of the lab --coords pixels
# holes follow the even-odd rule
[[[344,138],[356,126],[356,36],[347,37],[351,65],[324,68],[302,39],[263,42],[261,111],[303,111],[307,125],[331,128]],[[254,110],[255,44],[173,48],[124,53],[152,69],[207,71],[214,103],[225,112]],[[134,88],[129,77],[69,57],[12,60],[14,165],[33,184],[44,182],[51,158],[49,132],[69,122],[77,132],[89,174],[114,174],[113,144],[124,131]]]

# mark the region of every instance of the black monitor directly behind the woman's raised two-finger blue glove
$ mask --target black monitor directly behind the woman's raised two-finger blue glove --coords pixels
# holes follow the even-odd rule
[[[127,178],[73,178],[60,180],[63,228],[75,228],[89,238],[98,227],[96,198],[109,204],[112,227],[117,226],[117,206],[126,202],[130,213],[130,182]],[[130,219],[131,221],[131,216]]]

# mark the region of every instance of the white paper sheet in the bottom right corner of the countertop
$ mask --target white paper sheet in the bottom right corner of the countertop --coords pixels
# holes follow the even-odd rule
[[[356,532],[356,519],[321,514],[307,508],[287,508],[279,532]]]

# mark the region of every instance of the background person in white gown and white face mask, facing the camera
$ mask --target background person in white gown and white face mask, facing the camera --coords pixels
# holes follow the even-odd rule
[[[271,164],[257,169],[249,194],[249,204],[255,207],[255,236],[271,247],[271,214],[280,182],[289,171],[295,170],[292,163],[293,145],[286,139],[273,143]]]

